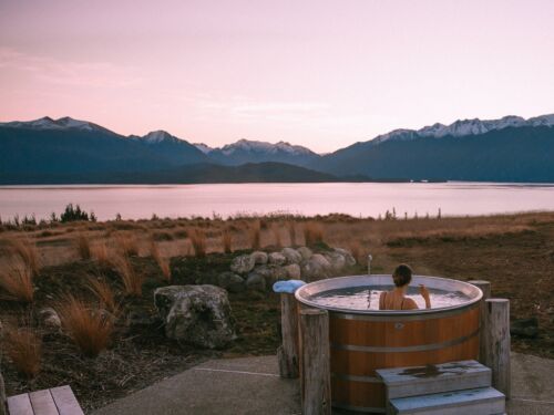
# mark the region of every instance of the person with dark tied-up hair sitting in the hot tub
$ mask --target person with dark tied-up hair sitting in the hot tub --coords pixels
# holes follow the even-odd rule
[[[379,310],[414,310],[418,309],[418,304],[412,299],[406,297],[408,291],[408,286],[412,280],[412,269],[407,264],[402,263],[397,267],[392,273],[392,280],[394,281],[394,289],[392,291],[381,292],[379,297]],[[431,297],[429,295],[429,290],[425,286],[419,286],[419,292],[423,300],[425,300],[425,309],[431,308]]]

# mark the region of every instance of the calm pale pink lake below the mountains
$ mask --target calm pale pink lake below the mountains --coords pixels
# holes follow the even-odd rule
[[[66,204],[93,210],[99,220],[158,217],[227,217],[288,212],[352,216],[475,216],[554,209],[554,185],[491,183],[326,183],[156,186],[1,186],[0,216],[58,215]]]

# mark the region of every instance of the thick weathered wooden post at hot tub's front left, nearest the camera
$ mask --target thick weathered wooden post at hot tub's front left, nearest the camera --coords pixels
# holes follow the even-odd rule
[[[300,310],[300,383],[304,415],[331,414],[329,314]]]

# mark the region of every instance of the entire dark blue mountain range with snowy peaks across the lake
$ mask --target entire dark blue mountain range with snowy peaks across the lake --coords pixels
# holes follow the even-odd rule
[[[396,129],[327,155],[279,142],[220,148],[123,136],[71,117],[0,123],[0,184],[554,181],[554,114]]]

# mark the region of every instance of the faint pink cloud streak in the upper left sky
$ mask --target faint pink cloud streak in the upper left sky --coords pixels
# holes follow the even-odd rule
[[[57,85],[129,87],[142,83],[136,68],[110,62],[62,61],[0,46],[0,71],[14,70]]]

